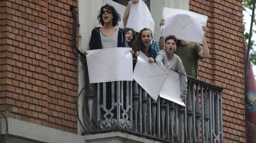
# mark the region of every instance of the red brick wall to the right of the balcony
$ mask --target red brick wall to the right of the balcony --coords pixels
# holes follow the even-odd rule
[[[199,79],[224,87],[224,142],[245,142],[242,0],[190,0],[189,8],[208,16],[210,57]]]

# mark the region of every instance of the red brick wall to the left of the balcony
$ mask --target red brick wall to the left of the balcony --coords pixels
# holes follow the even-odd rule
[[[77,0],[1,0],[0,94],[8,117],[77,132]]]

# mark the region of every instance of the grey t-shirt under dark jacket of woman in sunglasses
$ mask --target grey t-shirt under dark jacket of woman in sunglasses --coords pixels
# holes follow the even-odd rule
[[[110,48],[110,47],[116,47],[117,46],[117,36],[118,36],[118,29],[115,29],[115,32],[111,36],[105,36],[101,32],[100,29],[100,39],[101,39],[101,44],[102,48]]]

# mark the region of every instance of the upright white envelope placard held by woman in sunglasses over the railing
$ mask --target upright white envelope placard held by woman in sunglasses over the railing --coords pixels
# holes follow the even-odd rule
[[[86,59],[90,83],[133,80],[132,48],[88,50]]]

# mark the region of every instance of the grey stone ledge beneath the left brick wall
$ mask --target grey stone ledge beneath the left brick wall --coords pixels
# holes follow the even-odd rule
[[[8,142],[51,142],[51,143],[85,143],[84,136],[67,131],[50,128],[14,118],[8,120]],[[0,119],[1,134],[6,133],[5,118]],[[4,137],[4,135],[2,135]],[[2,138],[3,138],[2,137]]]

